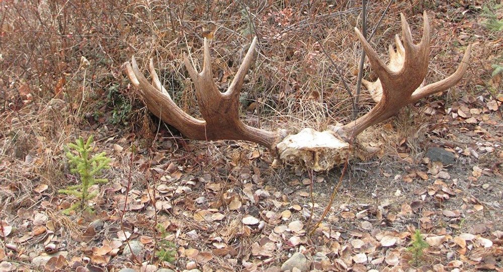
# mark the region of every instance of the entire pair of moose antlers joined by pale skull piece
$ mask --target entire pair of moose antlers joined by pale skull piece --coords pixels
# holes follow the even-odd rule
[[[350,142],[366,128],[382,122],[397,113],[407,104],[443,92],[456,84],[468,68],[471,45],[468,46],[463,60],[456,72],[438,82],[422,86],[428,73],[430,55],[430,24],[424,13],[423,38],[419,44],[412,42],[410,27],[401,14],[403,44],[396,40],[396,51],[390,46],[390,62],[386,65],[372,49],[358,29],[356,34],[363,49],[369,56],[372,68],[379,79],[375,82],[363,81],[377,102],[367,114],[357,120],[337,126],[329,126],[323,132],[304,128],[295,135],[284,135],[283,130],[276,132],[245,125],[238,117],[239,89],[248,70],[257,43],[253,42],[239,67],[234,80],[225,93],[221,93],[213,81],[211,57],[208,41],[204,40],[203,69],[196,72],[185,56],[185,66],[196,87],[196,96],[203,120],[198,120],[180,109],[170,95],[161,86],[159,78],[150,60],[150,84],[138,69],[134,57],[126,63],[126,71],[132,84],[140,89],[140,94],[147,108],[162,121],[176,127],[182,134],[196,140],[245,140],[268,147],[278,153],[283,161],[298,164],[315,171],[329,170],[341,164],[350,153]],[[286,136],[286,137],[284,137]]]

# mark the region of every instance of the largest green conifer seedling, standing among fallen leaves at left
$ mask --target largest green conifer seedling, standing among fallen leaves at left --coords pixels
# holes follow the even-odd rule
[[[64,210],[63,213],[66,215],[79,207],[81,210],[92,212],[91,207],[88,207],[88,201],[96,197],[97,193],[91,194],[89,188],[95,184],[103,184],[108,181],[106,178],[97,178],[96,176],[101,173],[101,170],[110,167],[108,165],[110,158],[105,156],[105,152],[91,156],[92,144],[93,136],[91,135],[86,141],[80,137],[75,143],[69,143],[67,146],[66,157],[68,157],[72,165],[70,171],[80,175],[80,184],[59,190],[59,193],[74,196],[80,201]]]

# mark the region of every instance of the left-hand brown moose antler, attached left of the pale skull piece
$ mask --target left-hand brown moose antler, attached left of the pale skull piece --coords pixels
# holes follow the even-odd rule
[[[180,109],[162,87],[150,60],[149,70],[152,83],[143,76],[134,59],[126,62],[126,72],[131,83],[140,90],[140,95],[155,116],[174,126],[186,137],[195,140],[245,140],[274,149],[279,139],[278,132],[250,127],[239,119],[239,90],[255,52],[257,38],[243,59],[243,62],[225,93],[218,90],[213,81],[211,56],[208,40],[204,39],[203,69],[198,73],[187,56],[185,66],[196,87],[199,110],[204,119],[198,120]]]

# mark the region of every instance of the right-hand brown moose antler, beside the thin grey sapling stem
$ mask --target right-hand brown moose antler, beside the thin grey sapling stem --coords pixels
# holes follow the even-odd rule
[[[429,95],[443,92],[456,84],[468,68],[471,45],[468,46],[458,69],[449,77],[421,86],[428,73],[430,61],[430,23],[426,11],[423,15],[423,38],[419,44],[414,44],[410,27],[401,16],[402,39],[395,36],[396,52],[389,46],[390,62],[388,65],[379,58],[377,52],[370,46],[360,31],[355,28],[356,34],[362,42],[363,49],[369,57],[372,68],[378,75],[375,82],[363,81],[369,93],[377,104],[367,114],[343,126],[339,131],[343,137],[355,137],[366,128],[382,122],[397,113],[407,104]]]

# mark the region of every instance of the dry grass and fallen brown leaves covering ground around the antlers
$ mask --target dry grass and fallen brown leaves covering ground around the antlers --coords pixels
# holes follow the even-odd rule
[[[370,31],[386,4],[370,4]],[[342,80],[352,88],[357,81],[359,1],[0,5],[0,271],[275,271],[296,251],[309,261],[322,253],[313,265],[324,270],[502,269],[502,75],[491,73],[503,63],[503,40],[484,26],[486,1],[392,2],[372,40],[383,57],[399,13],[419,34],[426,9],[435,31],[427,81],[450,74],[470,43],[472,64],[450,92],[362,133],[377,154],[357,152],[318,228],[340,170],[273,169],[254,144],[184,139],[142,107],[123,63],[134,54],[144,67],[153,58],[178,105],[197,116],[183,53],[199,62],[203,37],[211,37],[215,81],[225,89],[257,35],[242,118],[323,129],[351,119]],[[375,79],[369,66],[365,72]],[[373,105],[365,94],[360,103],[361,112]],[[65,216],[78,200],[58,190],[79,177],[64,148],[89,135],[112,159],[109,183],[92,188],[94,214]],[[424,158],[435,145],[456,154],[453,165]],[[410,262],[415,229],[430,247]],[[132,241],[142,245],[137,255],[124,253]],[[174,261],[155,254],[172,245]],[[32,262],[54,252],[65,254]]]

